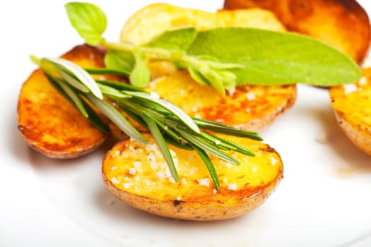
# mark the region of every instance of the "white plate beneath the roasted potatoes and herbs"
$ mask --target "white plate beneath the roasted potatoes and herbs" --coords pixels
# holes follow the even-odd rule
[[[151,2],[93,1],[107,13],[109,40]],[[223,5],[169,2],[208,11]],[[295,106],[261,133],[281,153],[285,178],[259,209],[224,222],[155,217],[107,191],[100,177],[107,145],[62,162],[20,139],[17,98],[35,68],[28,56],[59,56],[82,40],[64,1],[1,5],[0,246],[371,246],[371,157],[340,131],[326,90],[300,85]]]

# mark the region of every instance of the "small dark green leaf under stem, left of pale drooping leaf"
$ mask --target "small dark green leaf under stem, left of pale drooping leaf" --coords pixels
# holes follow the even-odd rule
[[[134,54],[129,51],[109,49],[105,55],[105,66],[107,68],[126,71],[127,75],[130,75],[131,71],[133,71],[134,64]]]

